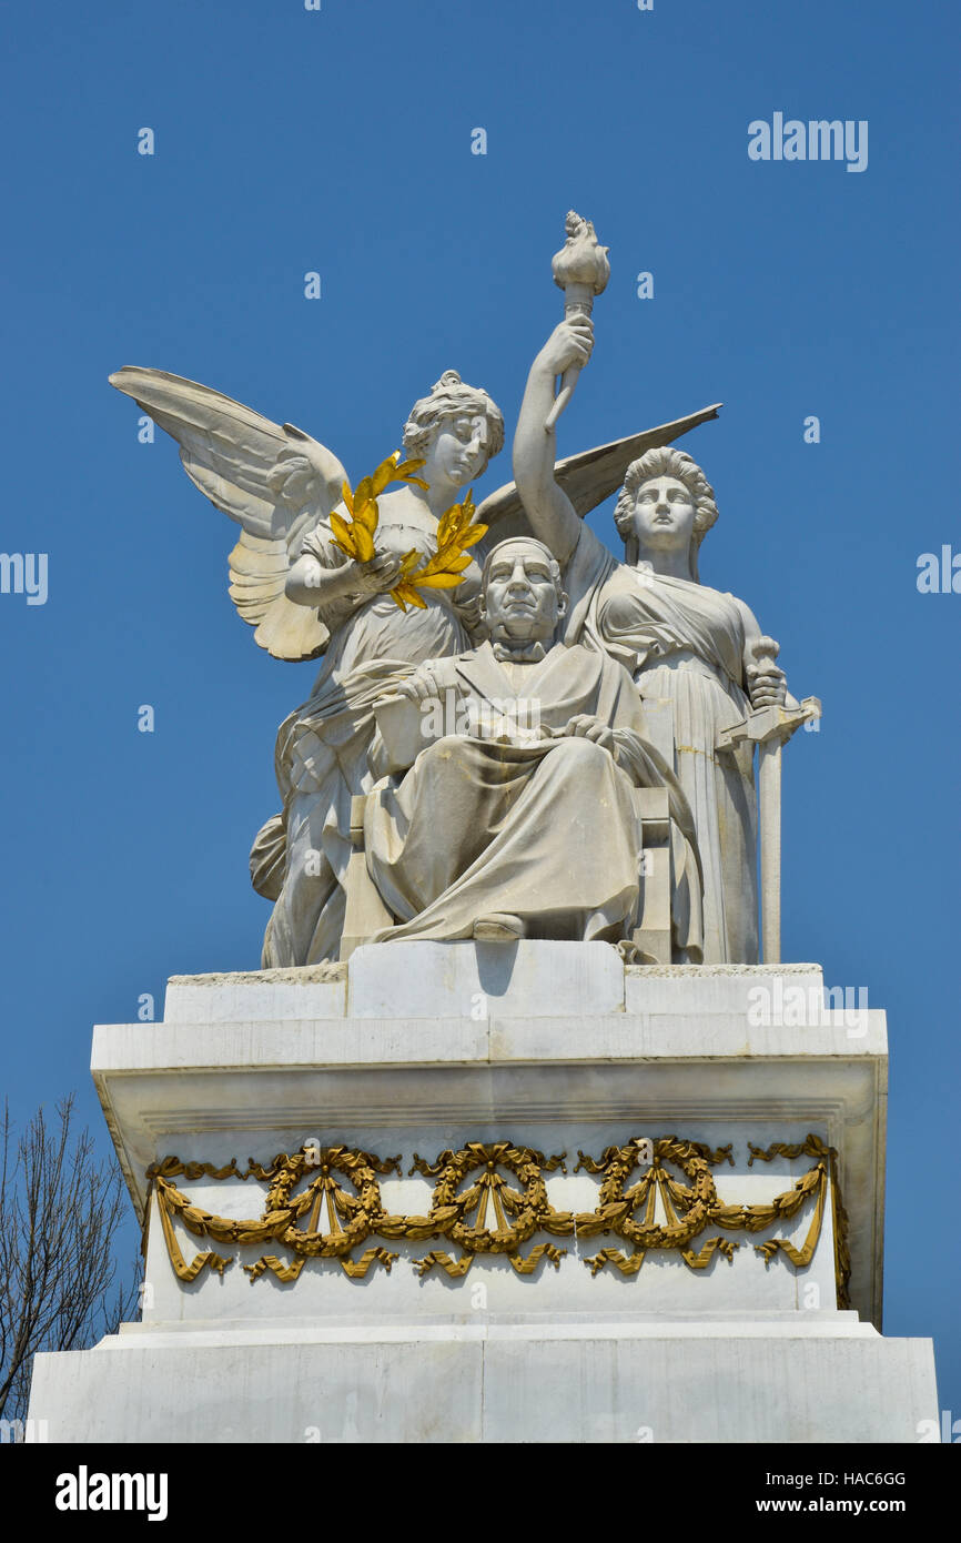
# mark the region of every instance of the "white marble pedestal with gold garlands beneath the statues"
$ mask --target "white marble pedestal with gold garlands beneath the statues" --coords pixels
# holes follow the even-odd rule
[[[818,966],[566,943],[174,978],[164,1023],[94,1034],[150,1216],[143,1321],[37,1356],[31,1418],[76,1443],[916,1441],[930,1341],[879,1333],[884,1014],[821,1003]]]

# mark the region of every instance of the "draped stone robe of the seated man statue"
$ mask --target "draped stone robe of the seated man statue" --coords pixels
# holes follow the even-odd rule
[[[565,736],[501,744],[447,734],[421,750],[403,776],[367,799],[367,869],[400,924],[375,941],[469,938],[491,912],[521,917],[529,937],[629,935],[639,903],[640,826],[631,788],[669,787],[676,829],[677,946],[700,952],[696,859],[680,826],[690,810],[673,773],[645,741],[631,677],[605,654],[554,645],[511,677],[484,643],[430,663],[438,693],[458,704],[518,699],[541,728],[577,714],[614,731],[617,759],[592,741]],[[520,685],[518,685],[520,679]],[[372,759],[376,759],[376,738]]]

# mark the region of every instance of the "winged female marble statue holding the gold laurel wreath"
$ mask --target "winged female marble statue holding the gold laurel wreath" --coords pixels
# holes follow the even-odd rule
[[[275,659],[324,656],[310,697],[278,733],[282,809],[258,833],[250,866],[255,889],[275,903],[264,966],[336,958],[350,799],[375,781],[373,704],[418,663],[483,637],[477,560],[457,588],[426,589],[423,606],[403,611],[390,589],[407,552],[435,555],[441,515],[503,446],[503,417],[455,370],[413,404],[403,444],[423,460],[426,486],[410,481],[379,498],[373,557],[361,562],[342,551],[332,525],[346,512],[344,466],[309,434],[165,370],[126,366],[110,381],[177,441],[190,480],[241,526],[230,596],[255,642]],[[716,415],[706,407],[569,457],[555,466],[557,483],[583,515],[620,486],[636,457]],[[514,483],[489,494],[477,520],[492,528],[489,540],[529,531]]]

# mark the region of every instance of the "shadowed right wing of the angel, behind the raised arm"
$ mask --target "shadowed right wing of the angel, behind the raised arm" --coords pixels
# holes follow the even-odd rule
[[[620,488],[631,461],[636,461],[645,451],[673,444],[682,434],[696,429],[699,423],[716,418],[720,406],[722,403],[714,403],[713,407],[702,407],[700,412],[691,412],[686,418],[662,423],[657,429],[642,429],[640,434],[629,434],[625,440],[612,440],[611,444],[599,444],[592,451],[582,451],[580,455],[568,455],[563,461],[557,461],[554,475],[583,520],[585,514],[589,514]],[[517,492],[517,483],[504,483],[503,488],[487,494],[478,506],[477,520],[491,526],[484,548],[494,542],[503,542],[509,535],[532,534]]]

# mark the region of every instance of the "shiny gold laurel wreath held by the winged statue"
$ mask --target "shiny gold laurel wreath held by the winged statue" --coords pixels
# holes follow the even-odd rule
[[[401,461],[401,452],[395,451],[386,461],[381,461],[372,477],[364,477],[352,491],[344,481],[344,505],[350,514],[350,525],[339,514],[330,515],[333,545],[358,563],[369,563],[375,555],[373,534],[379,522],[378,497],[392,481],[416,483],[427,491],[427,483],[413,474],[424,464],[423,460]],[[437,528],[437,552],[418,568],[421,554],[416,548],[404,552],[396,583],[390,591],[390,599],[406,611],[409,605],[421,611],[427,609],[427,602],[421,599],[420,589],[457,589],[464,582],[464,569],[470,565],[467,548],[480,542],[487,534],[486,525],[472,523],[475,506],[474,489],[467,491],[463,503],[452,503],[441,515]]]

